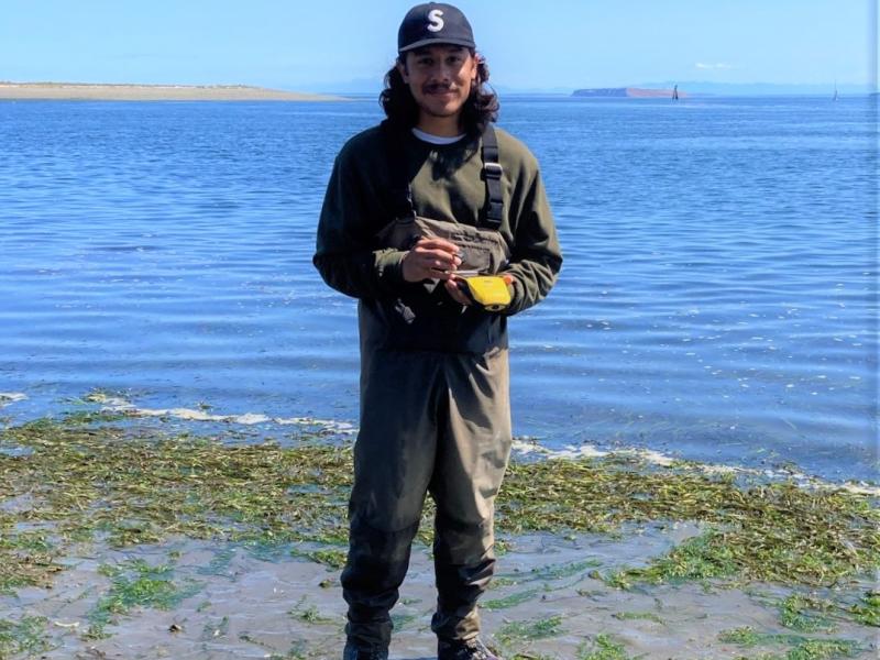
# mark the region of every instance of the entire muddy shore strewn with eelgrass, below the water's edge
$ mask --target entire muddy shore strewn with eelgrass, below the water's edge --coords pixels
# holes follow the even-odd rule
[[[0,658],[339,658],[353,429],[72,406],[0,433]],[[540,450],[516,443],[481,601],[507,660],[877,657],[876,490]],[[431,517],[396,660],[435,658]]]

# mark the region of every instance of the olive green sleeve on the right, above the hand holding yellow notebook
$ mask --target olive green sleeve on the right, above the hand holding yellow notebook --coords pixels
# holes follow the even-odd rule
[[[512,219],[510,224],[514,245],[504,273],[513,275],[514,290],[510,305],[503,312],[507,316],[543,300],[562,267],[562,251],[540,172],[536,170],[519,217]]]

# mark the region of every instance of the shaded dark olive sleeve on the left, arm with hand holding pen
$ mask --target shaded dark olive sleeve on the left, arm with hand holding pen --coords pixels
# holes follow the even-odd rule
[[[376,249],[375,227],[365,204],[365,183],[343,148],[333,164],[318,222],[312,263],[323,280],[354,298],[381,298],[403,286],[406,252]]]

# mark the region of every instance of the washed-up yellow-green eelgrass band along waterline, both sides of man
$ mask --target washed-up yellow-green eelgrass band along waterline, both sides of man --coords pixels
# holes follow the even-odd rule
[[[185,536],[266,552],[308,541],[328,549],[306,554],[338,566],[351,447],[222,440],[136,432],[89,415],[6,429],[0,450],[28,451],[0,451],[0,591],[50,584],[73,543],[92,539],[130,546]],[[607,532],[657,520],[700,521],[707,531],[610,578],[622,586],[834,585],[880,564],[880,515],[871,498],[844,490],[736,483],[629,460],[550,460],[513,463],[497,502],[502,534]],[[430,527],[422,525],[426,535]],[[871,620],[867,603],[862,609]]]

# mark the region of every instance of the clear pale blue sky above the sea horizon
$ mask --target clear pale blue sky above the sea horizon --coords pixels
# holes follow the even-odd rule
[[[462,0],[492,82],[869,88],[878,0]],[[0,0],[0,80],[366,91],[411,1]],[[362,89],[363,88],[363,89]]]

